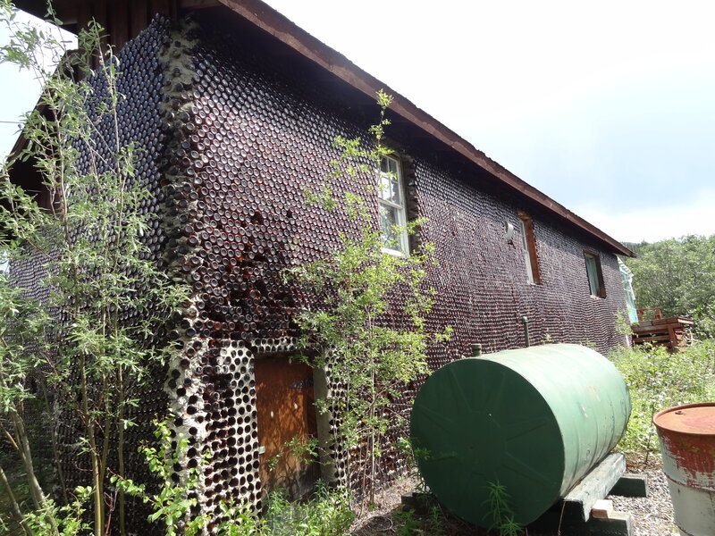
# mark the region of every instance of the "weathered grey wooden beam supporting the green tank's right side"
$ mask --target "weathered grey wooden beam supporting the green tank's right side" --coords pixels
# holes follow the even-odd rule
[[[565,507],[580,512],[583,521],[591,515],[591,508],[600,498],[606,498],[611,488],[626,472],[626,456],[620,452],[603,458],[581,482],[563,498]]]

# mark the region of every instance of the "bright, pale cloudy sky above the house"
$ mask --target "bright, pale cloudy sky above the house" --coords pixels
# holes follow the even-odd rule
[[[712,2],[267,4],[613,238],[715,233]],[[30,84],[0,80],[14,121]]]

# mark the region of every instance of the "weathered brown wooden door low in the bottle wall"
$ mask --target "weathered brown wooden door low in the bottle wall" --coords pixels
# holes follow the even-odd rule
[[[313,370],[286,356],[267,356],[257,358],[254,374],[264,492],[282,488],[300,498],[313,490],[320,474],[299,447],[317,435]]]

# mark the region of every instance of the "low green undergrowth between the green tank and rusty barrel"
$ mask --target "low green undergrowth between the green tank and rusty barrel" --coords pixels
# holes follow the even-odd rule
[[[633,411],[618,448],[657,452],[652,416],[662,409],[715,399],[715,339],[696,342],[680,353],[666,348],[616,348],[610,360],[623,374]]]

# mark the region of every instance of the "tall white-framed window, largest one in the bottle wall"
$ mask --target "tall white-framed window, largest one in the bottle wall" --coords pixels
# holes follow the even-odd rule
[[[407,230],[404,229],[407,223],[405,188],[402,186],[402,172],[397,158],[383,156],[377,197],[380,203],[383,251],[392,255],[407,255],[409,243]]]

